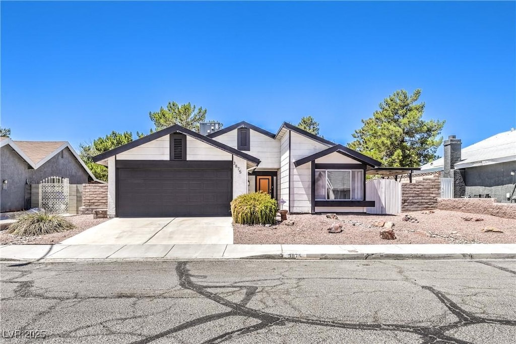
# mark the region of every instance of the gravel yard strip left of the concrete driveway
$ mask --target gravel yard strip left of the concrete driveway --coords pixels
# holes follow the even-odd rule
[[[61,241],[75,236],[76,234],[86,230],[90,227],[101,224],[108,218],[93,218],[93,215],[73,215],[68,216],[67,220],[70,220],[76,228],[60,232],[45,234],[43,236],[35,237],[18,237],[13,234],[9,234],[7,230],[0,231],[0,244],[1,245],[26,245],[26,244],[57,244]]]

